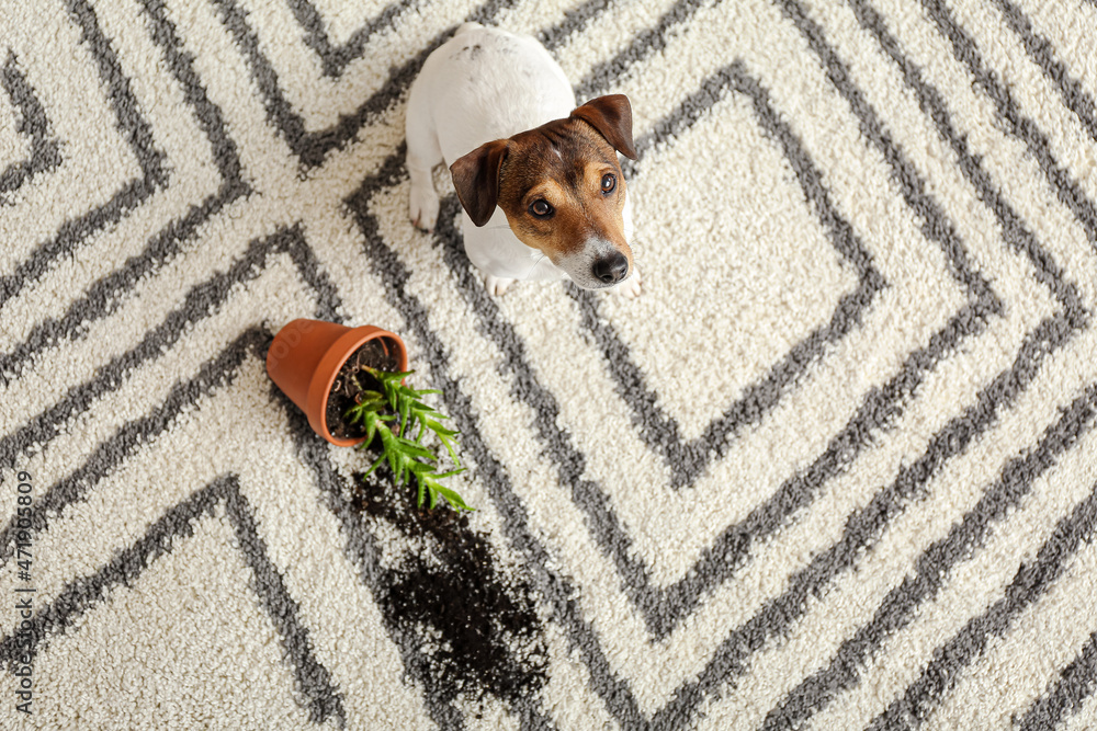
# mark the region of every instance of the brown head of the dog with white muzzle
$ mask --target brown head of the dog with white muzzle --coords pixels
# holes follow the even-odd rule
[[[625,183],[617,151],[636,159],[632,107],[600,96],[509,139],[482,145],[450,165],[468,217],[484,226],[498,205],[514,235],[548,256],[580,287],[627,278]]]

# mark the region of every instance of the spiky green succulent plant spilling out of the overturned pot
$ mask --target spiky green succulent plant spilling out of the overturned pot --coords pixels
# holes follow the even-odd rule
[[[461,467],[461,461],[457,459],[457,432],[441,423],[449,416],[422,402],[425,396],[441,391],[436,389],[416,390],[402,384],[400,381],[414,374],[414,370],[388,373],[367,366],[363,366],[362,369],[376,381],[380,390],[363,387],[355,381],[360,389],[358,403],[347,411],[344,418],[349,423],[361,424],[365,430],[365,442],[360,448],[369,448],[374,437],[381,438],[382,454],[365,472],[365,477],[372,475],[387,460],[396,484],[402,486],[410,482],[412,478],[415,479],[418,487],[419,507],[422,507],[423,500],[428,496],[429,506],[434,507],[439,496],[441,496],[457,510],[473,510],[465,504],[461,495],[441,483],[441,480],[464,471],[464,467]],[[412,439],[410,436],[416,431],[416,426],[418,426],[418,433]],[[456,469],[442,473],[436,471],[439,464],[438,456],[423,444],[423,437],[428,432],[433,433],[442,443]]]

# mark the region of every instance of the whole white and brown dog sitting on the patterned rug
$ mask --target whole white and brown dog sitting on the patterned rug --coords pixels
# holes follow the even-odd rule
[[[406,133],[411,224],[433,230],[431,171],[444,163],[463,209],[465,252],[488,292],[570,278],[585,289],[640,294],[617,155],[636,159],[626,96],[577,107],[536,39],[465,23],[412,82]]]

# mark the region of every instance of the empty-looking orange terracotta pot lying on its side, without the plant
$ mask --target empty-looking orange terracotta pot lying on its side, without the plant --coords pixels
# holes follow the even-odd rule
[[[328,429],[328,395],[343,363],[367,341],[376,339],[396,358],[399,370],[407,370],[407,349],[395,333],[370,324],[348,328],[323,320],[294,320],[274,335],[267,351],[267,373],[305,412],[317,434],[340,447],[354,446],[364,437],[340,439]]]

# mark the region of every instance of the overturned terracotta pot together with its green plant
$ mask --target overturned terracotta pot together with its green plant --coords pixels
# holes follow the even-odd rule
[[[294,320],[267,352],[271,380],[305,412],[317,434],[337,446],[380,448],[366,476],[387,462],[397,484],[417,483],[420,507],[423,501],[433,507],[443,498],[455,509],[472,510],[441,483],[464,471],[457,432],[442,425],[448,416],[422,401],[439,391],[405,385],[414,373],[407,366],[399,335],[323,320]],[[439,455],[423,441],[428,435],[445,447],[454,469],[439,472]]]

